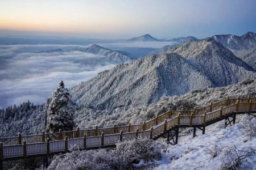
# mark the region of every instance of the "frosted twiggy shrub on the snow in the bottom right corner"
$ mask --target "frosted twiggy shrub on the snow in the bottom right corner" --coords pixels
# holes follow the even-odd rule
[[[225,146],[221,149],[219,160],[221,164],[217,169],[230,170],[238,167],[247,167],[250,165],[246,159],[249,156],[255,156],[256,150],[251,147],[237,150],[236,146]]]

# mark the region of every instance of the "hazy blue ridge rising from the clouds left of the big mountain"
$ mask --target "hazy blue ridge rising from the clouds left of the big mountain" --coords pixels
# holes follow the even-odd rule
[[[98,46],[96,44],[90,45],[87,48],[76,48],[73,50],[85,53],[93,53],[100,56],[106,56],[104,58],[100,58],[99,62],[110,62],[118,64],[133,60],[133,57],[131,57],[129,53],[114,51],[111,49],[103,48],[102,46]]]

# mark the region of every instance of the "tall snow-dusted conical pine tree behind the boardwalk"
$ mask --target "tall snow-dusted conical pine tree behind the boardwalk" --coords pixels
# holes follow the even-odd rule
[[[73,130],[75,126],[73,113],[71,95],[61,80],[52,94],[48,107],[47,130],[49,133],[55,133],[59,129]]]

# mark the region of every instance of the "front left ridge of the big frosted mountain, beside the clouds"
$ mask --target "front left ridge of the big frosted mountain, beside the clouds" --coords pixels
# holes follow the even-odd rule
[[[120,105],[150,104],[164,95],[181,95],[210,86],[193,65],[172,53],[115,66],[71,88],[71,93],[80,104],[112,110]]]

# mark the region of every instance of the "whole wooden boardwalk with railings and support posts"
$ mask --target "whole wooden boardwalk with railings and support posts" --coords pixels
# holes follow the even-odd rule
[[[229,99],[212,103],[207,107],[193,111],[171,111],[157,115],[150,121],[139,125],[113,126],[111,128],[96,128],[73,131],[59,131],[52,134],[36,134],[18,137],[0,138],[0,162],[15,159],[35,158],[68,152],[68,148],[76,145],[81,150],[114,147],[118,141],[138,137],[157,139],[162,135],[171,135],[174,144],[177,143],[178,128],[196,128],[205,130],[205,126],[221,120],[228,120],[236,114],[256,113],[256,97],[247,99]],[[231,124],[231,122],[229,121]],[[201,128],[200,128],[201,127]],[[176,131],[176,141],[172,131]]]

